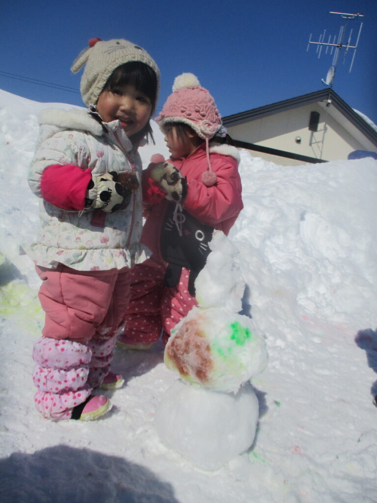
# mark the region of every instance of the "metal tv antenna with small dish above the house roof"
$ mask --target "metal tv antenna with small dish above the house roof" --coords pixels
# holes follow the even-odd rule
[[[360,23],[359,32],[358,32],[358,35],[357,35],[357,38],[356,38],[356,42],[354,43],[354,45],[351,45],[351,38],[352,38],[352,31],[353,31],[352,28],[351,28],[351,30],[349,32],[348,40],[347,40],[347,42],[345,42],[345,39],[347,37],[347,33],[346,33],[346,31],[347,31],[347,23],[348,23],[349,20],[363,18],[364,15],[363,14],[358,14],[358,13],[357,14],[347,14],[345,12],[330,12],[330,14],[338,14],[343,19],[345,19],[344,25],[342,25],[340,27],[340,29],[339,29],[338,37],[336,35],[334,35],[334,36],[328,35],[328,38],[327,38],[327,36],[326,36],[326,30],[324,30],[323,33],[319,36],[319,41],[318,42],[314,42],[314,41],[312,41],[312,34],[310,34],[309,42],[308,42],[308,47],[307,47],[306,51],[307,52],[309,51],[310,44],[316,44],[317,45],[316,52],[318,54],[318,58],[321,57],[321,53],[322,53],[323,47],[326,47],[325,54],[327,54],[329,50],[330,50],[330,55],[332,55],[334,53],[332,64],[331,64],[330,68],[327,71],[326,78],[325,79],[323,79],[323,78],[321,79],[324,86],[330,86],[330,87],[332,87],[333,82],[334,82],[334,78],[335,78],[336,67],[337,67],[339,59],[340,59],[340,51],[343,48],[345,49],[344,57],[343,57],[343,64],[344,64],[347,52],[349,51],[349,49],[353,49],[352,60],[351,60],[351,64],[350,64],[350,67],[349,67],[349,70],[348,70],[348,73],[351,73],[352,66],[353,66],[353,61],[355,60],[355,54],[356,54],[357,44],[358,44],[359,39],[360,39],[360,33],[361,33],[362,23]],[[327,39],[327,41],[326,41],[326,39]]]

